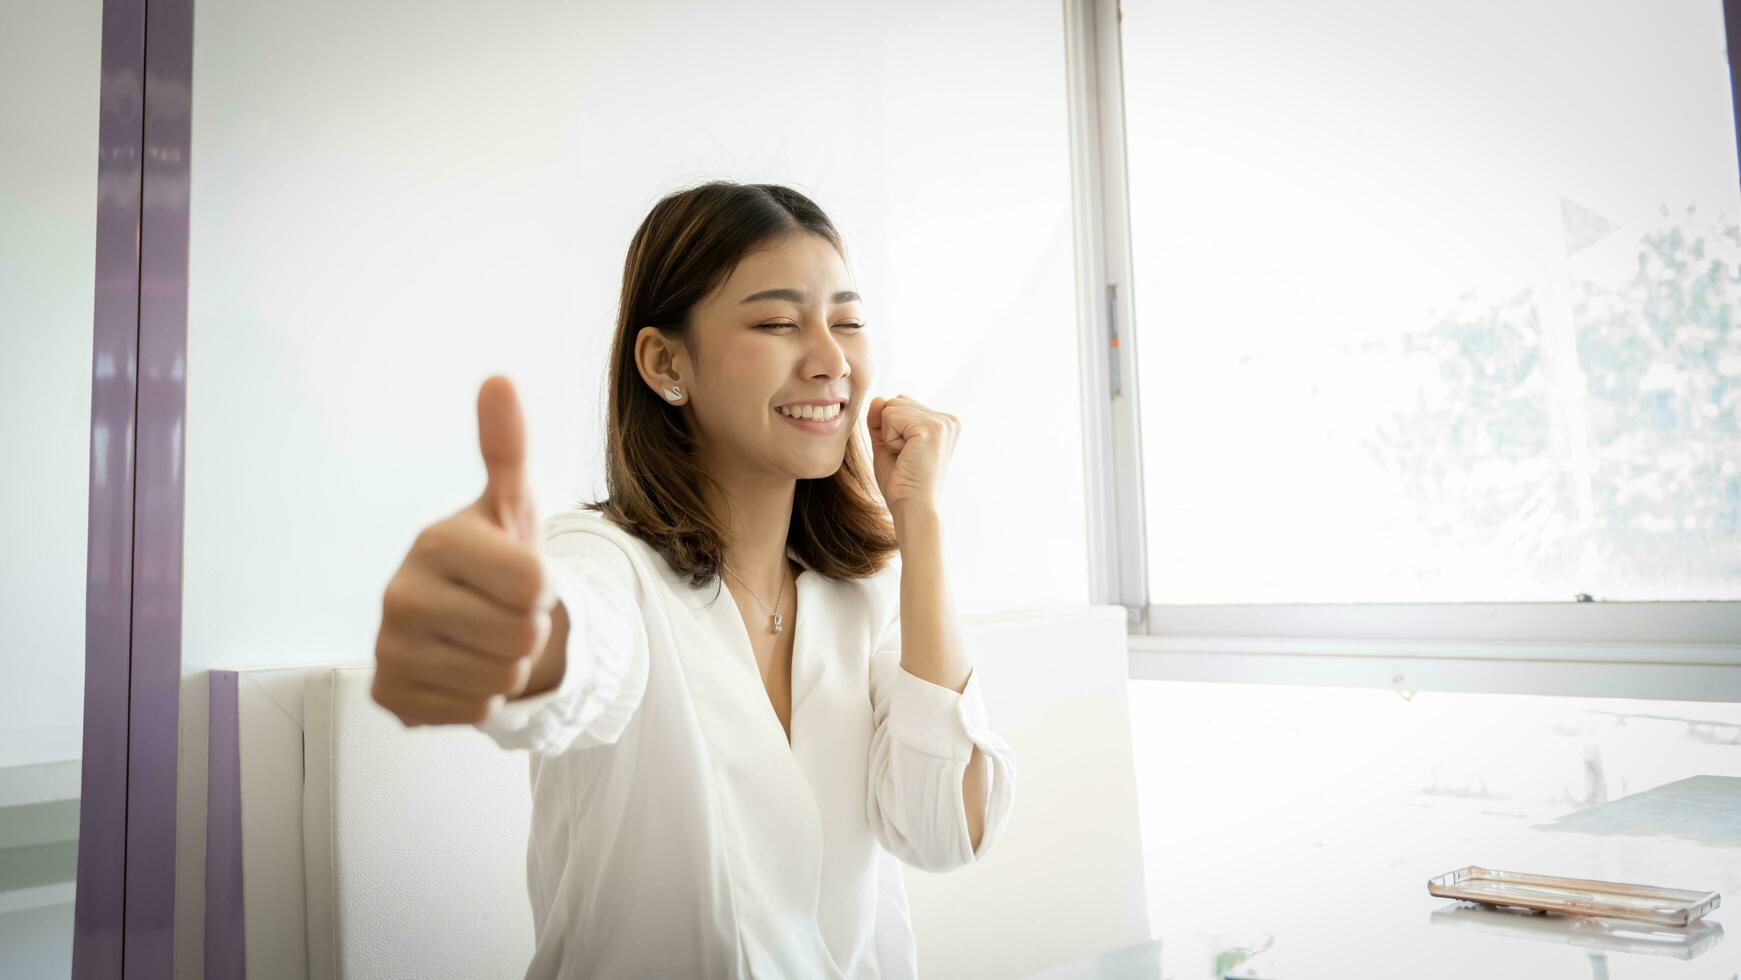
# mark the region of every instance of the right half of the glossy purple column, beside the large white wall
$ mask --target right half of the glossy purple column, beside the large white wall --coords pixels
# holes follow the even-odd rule
[[[176,933],[193,0],[148,2],[145,78],[124,966],[129,980],[167,980]]]

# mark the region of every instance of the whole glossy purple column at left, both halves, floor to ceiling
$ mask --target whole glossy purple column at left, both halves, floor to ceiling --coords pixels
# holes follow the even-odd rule
[[[174,966],[192,0],[104,0],[73,977]]]

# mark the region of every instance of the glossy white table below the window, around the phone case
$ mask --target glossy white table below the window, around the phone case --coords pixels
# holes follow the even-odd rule
[[[1520,794],[1501,799],[1506,794],[1497,792],[1429,797],[1398,792],[1398,785],[1414,785],[1398,773],[1412,773],[1408,766],[1422,757],[1431,762],[1449,755],[1405,745],[1354,759],[1349,748],[1341,764],[1358,768],[1344,773],[1334,790],[1314,795],[1306,787],[1330,780],[1307,775],[1288,783],[1278,804],[1250,790],[1283,782],[1290,768],[1332,748],[1314,742],[1314,733],[1328,728],[1316,715],[1325,705],[1311,705],[1313,719],[1295,740],[1274,742],[1278,731],[1266,726],[1276,722],[1247,719],[1219,729],[1207,715],[1193,715],[1215,710],[1189,707],[1201,696],[1213,695],[1198,691],[1187,700],[1151,703],[1151,714],[1139,715],[1153,721],[1153,712],[1161,712],[1158,726],[1179,726],[1142,733],[1160,740],[1153,745],[1180,745],[1187,731],[1198,735],[1194,752],[1173,754],[1163,766],[1168,780],[1156,785],[1147,778],[1144,785],[1151,797],[1146,813],[1158,815],[1153,825],[1146,816],[1146,846],[1154,848],[1149,888],[1156,938],[1032,973],[1031,980],[1741,977],[1741,778],[1682,778],[1595,806],[1515,799]],[[1245,701],[1247,710],[1254,707],[1250,698]],[[1732,714],[1734,707],[1706,714],[1713,710]],[[1445,745],[1461,745],[1455,729],[1442,722],[1431,719],[1422,729],[1435,738],[1443,733]],[[1370,724],[1367,735],[1382,728],[1372,719],[1356,717],[1354,724]],[[1633,728],[1626,738],[1644,724],[1635,721]],[[1226,731],[1271,742],[1264,754],[1254,754],[1217,738]],[[1407,742],[1407,731],[1393,731]],[[1203,745],[1205,736],[1213,748]],[[1727,738],[1724,731],[1724,743]],[[1295,745],[1302,740],[1309,745]],[[1577,752],[1593,742],[1607,747],[1607,768],[1617,771],[1624,745],[1614,738],[1593,736],[1586,726],[1569,740]],[[1389,750],[1408,757],[1408,766],[1388,769],[1381,755]],[[1732,750],[1741,752],[1741,743]],[[1260,757],[1274,766],[1260,768]],[[1489,771],[1497,768],[1492,762]],[[1529,778],[1541,780],[1541,769],[1530,769]],[[1248,789],[1250,799],[1229,792],[1238,785]],[[1499,785],[1497,776],[1492,785]],[[1428,895],[1429,877],[1471,863],[1711,889],[1722,893],[1724,907],[1704,924],[1680,931],[1492,910]]]

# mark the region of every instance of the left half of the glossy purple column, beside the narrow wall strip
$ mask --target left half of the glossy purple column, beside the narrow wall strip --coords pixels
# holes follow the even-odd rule
[[[118,978],[127,881],[127,698],[132,649],[134,379],[145,0],[103,2],[97,99],[91,505],[85,522],[85,703],[73,898],[73,977]]]

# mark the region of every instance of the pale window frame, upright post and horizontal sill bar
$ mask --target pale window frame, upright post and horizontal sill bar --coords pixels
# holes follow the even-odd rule
[[[1130,675],[1741,701],[1741,602],[1732,601],[1163,604],[1149,595],[1121,21],[1119,0],[1064,0],[1088,590],[1092,602],[1125,609]],[[1731,42],[1736,21],[1725,19]]]

